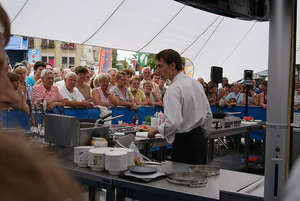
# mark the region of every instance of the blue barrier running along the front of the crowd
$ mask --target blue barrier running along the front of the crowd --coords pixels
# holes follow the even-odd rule
[[[233,106],[228,109],[227,107],[218,108],[217,106],[212,106],[212,112],[217,112],[222,109],[223,112],[240,112],[235,114],[235,116],[241,119],[245,116],[245,106]],[[112,120],[112,124],[118,124],[119,120],[124,123],[132,123],[134,116],[134,111],[130,110],[128,107],[117,107],[110,108],[112,111],[112,117],[123,114],[124,116],[118,119]],[[137,109],[137,116],[139,125],[145,121],[146,116],[153,116],[156,112],[163,111],[162,107],[139,107]],[[299,112],[299,111],[298,111]],[[46,112],[47,113],[47,112]],[[35,114],[33,114],[35,115]],[[99,119],[100,110],[98,108],[85,109],[85,108],[72,108],[65,107],[65,115],[75,116],[78,119]],[[42,114],[38,110],[39,123],[42,123]],[[254,119],[260,119],[266,121],[266,110],[258,106],[248,106],[248,116],[254,117]],[[3,110],[2,114],[2,128],[22,128],[24,130],[30,130],[29,117],[22,110]],[[253,131],[251,133],[252,139],[262,140],[263,131]]]

